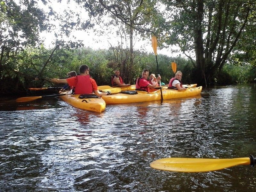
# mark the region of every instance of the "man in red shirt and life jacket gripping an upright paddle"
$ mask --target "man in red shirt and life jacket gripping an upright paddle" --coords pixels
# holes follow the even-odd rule
[[[148,81],[148,69],[144,69],[142,71],[141,77],[139,77],[136,81],[136,89],[137,91],[146,91],[149,92],[149,89],[154,89],[158,82],[161,80],[161,76],[158,76],[154,84],[150,84]]]

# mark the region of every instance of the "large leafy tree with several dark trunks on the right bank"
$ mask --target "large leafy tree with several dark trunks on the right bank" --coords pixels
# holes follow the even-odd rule
[[[212,77],[227,63],[232,51],[244,59],[247,56],[248,61],[253,58],[256,26],[254,1],[161,2],[168,10],[166,21],[162,23],[163,31],[167,33],[162,39],[168,45],[179,46],[188,57],[188,53],[195,54],[198,82],[202,83],[206,78],[207,83],[211,83]],[[244,52],[247,54],[243,55]],[[192,57],[190,59],[193,60]]]

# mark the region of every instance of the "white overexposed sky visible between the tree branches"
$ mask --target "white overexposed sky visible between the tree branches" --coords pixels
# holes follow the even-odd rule
[[[46,6],[44,6],[43,4],[40,4],[39,1],[39,6],[44,8],[45,12],[50,12],[50,9]],[[64,10],[69,7],[72,11],[74,12],[79,12],[79,14],[81,15],[80,19],[83,21],[88,19],[88,15],[86,12],[84,12],[83,9],[81,9],[80,7],[78,7],[75,3],[73,3],[72,1],[70,1],[70,3],[67,3],[66,0],[62,0],[61,3],[58,3],[57,1],[52,1],[52,8],[54,11],[56,11],[58,14],[63,14]],[[58,23],[56,21],[52,20],[52,23],[54,25],[58,25]],[[95,25],[95,28],[100,29],[99,25]],[[58,30],[58,29],[57,29]],[[118,45],[118,41],[120,42],[120,38],[118,38],[118,36],[116,36],[115,34],[115,29],[111,28],[111,29],[105,29],[105,34],[103,34],[102,36],[97,35],[95,32],[93,32],[93,30],[87,30],[87,31],[72,31],[71,35],[69,38],[72,39],[73,36],[76,37],[77,40],[82,40],[83,44],[86,47],[91,47],[92,49],[102,49],[102,48],[106,48],[108,49],[110,47],[110,43],[112,46],[117,46]],[[52,48],[54,46],[54,44],[52,44],[54,42],[55,36],[54,36],[54,32],[53,33],[42,33],[41,37],[44,38],[44,45],[46,47],[50,47]],[[128,40],[129,42],[129,40]],[[148,40],[142,40],[140,38],[140,36],[136,36],[133,40],[134,42],[134,49],[137,50],[144,50],[146,52],[152,52],[153,53],[153,48],[151,45],[151,38],[149,38]],[[129,46],[129,44],[123,44],[123,47],[125,48],[126,46]],[[172,48],[178,49],[177,47],[173,46]],[[161,50],[157,50],[157,54],[164,54],[170,57],[176,57],[179,54],[182,54],[181,52],[179,53],[173,53],[170,51],[170,49],[164,48]]]

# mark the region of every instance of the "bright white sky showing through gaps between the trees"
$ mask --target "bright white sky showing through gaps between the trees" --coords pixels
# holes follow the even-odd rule
[[[16,1],[17,4],[19,4],[19,1]],[[67,2],[67,0],[62,0],[61,2],[57,2],[57,1],[52,1],[51,4],[46,4],[44,5],[40,0],[38,0],[38,7],[44,9],[44,11],[46,13],[50,12],[49,6],[52,7],[53,11],[57,12],[58,16],[61,16],[61,19],[65,19],[65,16],[63,16],[65,14],[64,10],[71,10],[73,12],[77,12],[80,16],[81,22],[86,21],[89,19],[88,13],[84,11],[83,8],[81,8],[80,6],[78,6],[75,2],[70,1],[70,3]],[[162,9],[164,9],[164,7],[162,7]],[[42,32],[40,34],[40,37],[43,39],[44,45],[46,48],[53,48],[55,46],[55,40],[56,37],[54,35],[54,33],[60,34],[60,25],[61,25],[61,21],[60,20],[53,20],[54,17],[52,17],[52,20],[50,20],[50,22],[56,26],[56,28],[54,30],[52,30],[52,32]],[[108,18],[106,17],[106,20]],[[74,17],[74,22],[76,22],[75,17]],[[116,35],[116,30],[117,28],[115,28],[115,26],[109,26],[108,28],[104,28],[104,34],[97,34],[95,32],[100,30],[103,27],[100,27],[99,25],[95,25],[94,26],[94,30],[93,29],[87,29],[86,31],[81,31],[81,30],[76,30],[74,29],[73,31],[71,31],[70,36],[67,37],[66,39],[64,38],[63,40],[81,40],[82,43],[86,46],[86,47],[90,47],[92,49],[108,49],[110,46],[118,46],[120,45],[120,42],[123,43],[123,48],[126,48],[127,46],[129,46],[129,36],[126,38],[123,38],[121,40],[120,36]],[[139,35],[135,35],[136,32],[134,32],[134,39],[133,39],[133,43],[134,43],[134,50],[143,50],[145,52],[148,53],[153,53],[153,48],[151,45],[151,38],[149,38],[148,40],[142,40],[142,38]],[[75,38],[74,38],[74,37]],[[172,49],[178,49],[176,46],[172,46]],[[161,50],[157,50],[158,54],[164,54],[167,56],[171,56],[171,57],[176,57],[179,54],[182,54],[181,52],[172,52],[170,51],[170,49],[168,48],[164,48]]]

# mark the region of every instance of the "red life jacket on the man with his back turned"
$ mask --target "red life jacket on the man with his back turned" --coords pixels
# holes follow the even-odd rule
[[[90,80],[90,75],[78,75],[76,76],[76,88],[75,94],[89,94],[92,93],[92,83]]]

